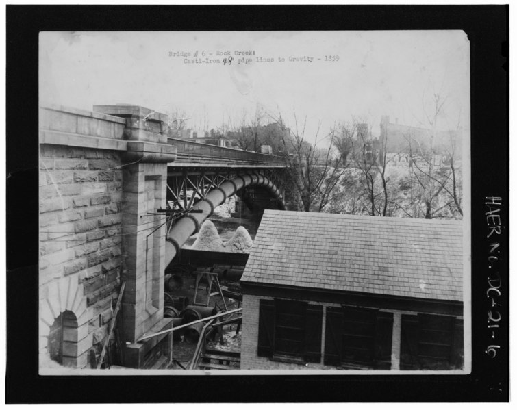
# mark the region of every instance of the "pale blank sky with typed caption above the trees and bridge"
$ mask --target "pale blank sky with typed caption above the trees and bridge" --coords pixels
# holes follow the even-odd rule
[[[323,146],[353,118],[374,135],[383,115],[422,126],[438,94],[438,128],[465,132],[469,59],[463,31],[42,32],[40,103],[179,111],[194,129],[240,125],[258,108],[266,123],[306,121],[305,138]]]

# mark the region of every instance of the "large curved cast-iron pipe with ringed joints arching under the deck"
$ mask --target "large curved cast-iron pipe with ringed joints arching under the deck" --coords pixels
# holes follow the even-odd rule
[[[184,216],[184,218],[181,218],[173,225],[166,240],[165,266],[171,263],[190,235],[199,231],[203,221],[212,215],[216,207],[224,203],[226,198],[234,195],[238,190],[252,186],[258,186],[267,190],[277,200],[279,209],[285,210],[287,208],[281,190],[268,177],[259,173],[249,172],[229,179],[221,183],[218,188],[210,190],[203,200],[198,201],[192,207],[192,209],[197,211],[196,213]]]

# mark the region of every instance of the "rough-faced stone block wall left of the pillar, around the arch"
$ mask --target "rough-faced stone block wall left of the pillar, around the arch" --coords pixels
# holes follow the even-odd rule
[[[107,335],[120,285],[121,209],[120,153],[40,146],[40,298],[53,281],[69,278],[81,285],[91,317],[79,326],[81,351],[66,355],[81,357],[66,360],[74,367],[86,366],[89,348],[100,354]]]

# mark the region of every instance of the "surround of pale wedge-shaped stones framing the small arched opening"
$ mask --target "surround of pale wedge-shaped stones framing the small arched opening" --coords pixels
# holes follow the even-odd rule
[[[79,277],[72,275],[52,281],[40,289],[39,355],[42,363],[52,365],[49,352],[49,335],[56,321],[63,319],[62,366],[83,368],[86,366],[88,350],[92,348],[92,337],[88,335],[88,322],[92,320],[92,309],[86,307],[83,286]],[[52,366],[51,366],[52,367]]]

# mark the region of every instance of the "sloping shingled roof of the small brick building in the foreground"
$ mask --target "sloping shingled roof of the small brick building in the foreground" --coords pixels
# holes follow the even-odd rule
[[[462,221],[266,210],[241,282],[462,301]]]

